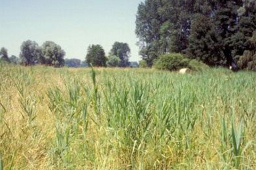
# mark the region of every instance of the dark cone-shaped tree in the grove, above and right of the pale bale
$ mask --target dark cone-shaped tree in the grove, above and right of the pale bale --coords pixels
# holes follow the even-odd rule
[[[196,14],[192,20],[187,54],[189,58],[198,59],[207,65],[224,65],[224,53],[220,50],[220,37],[214,29],[213,19]]]

